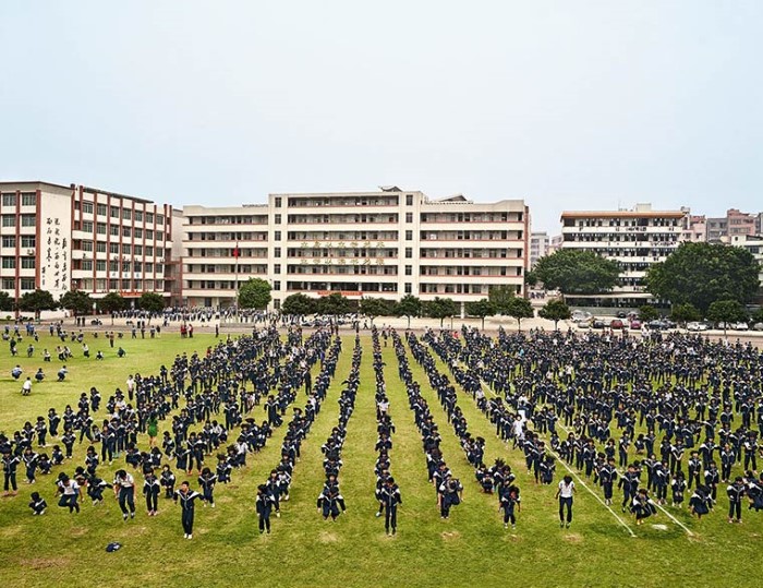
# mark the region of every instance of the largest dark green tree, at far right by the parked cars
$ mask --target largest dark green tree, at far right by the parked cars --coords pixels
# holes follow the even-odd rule
[[[750,302],[758,293],[760,267],[748,250],[718,243],[681,243],[646,273],[656,298],[693,304],[705,313],[716,300]]]

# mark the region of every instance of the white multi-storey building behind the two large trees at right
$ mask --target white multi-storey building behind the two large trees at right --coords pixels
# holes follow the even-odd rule
[[[688,214],[688,209],[653,211],[651,204],[630,211],[562,213],[562,248],[593,251],[621,267],[611,293],[580,298],[622,307],[644,303],[651,298],[643,285],[646,271],[679,245]]]

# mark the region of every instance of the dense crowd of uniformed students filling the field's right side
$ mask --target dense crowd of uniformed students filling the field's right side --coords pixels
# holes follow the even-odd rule
[[[465,327],[461,337],[428,331],[423,339],[496,433],[524,452],[536,481],[550,482],[553,469],[543,466],[557,454],[593,478],[606,504],[617,483],[622,512],[638,524],[668,494],[680,507],[687,490],[690,513],[701,518],[714,509],[722,484],[729,523],[741,521],[746,501],[749,509],[763,508],[756,472],[763,355],[751,345],[679,334],[641,340],[501,331],[491,338]],[[485,388],[496,396],[483,401]],[[560,437],[557,425],[571,430]]]

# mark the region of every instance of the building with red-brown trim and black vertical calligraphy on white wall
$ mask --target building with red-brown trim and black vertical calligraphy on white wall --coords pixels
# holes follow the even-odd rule
[[[172,208],[84,185],[0,182],[0,289],[166,292]],[[175,227],[180,223],[175,221]]]

